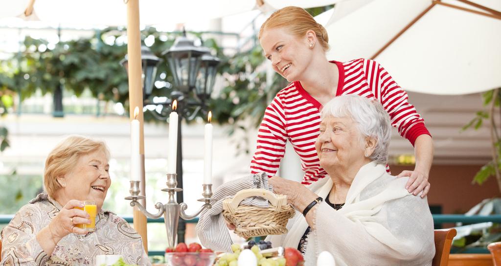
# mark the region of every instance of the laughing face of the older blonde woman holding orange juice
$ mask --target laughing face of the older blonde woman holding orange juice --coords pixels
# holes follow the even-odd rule
[[[73,170],[58,178],[64,185],[57,191],[56,200],[63,206],[71,199],[94,200],[100,210],[111,185],[109,168],[103,150],[80,156]]]

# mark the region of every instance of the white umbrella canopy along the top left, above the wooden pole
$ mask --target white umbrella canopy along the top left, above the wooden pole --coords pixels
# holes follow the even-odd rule
[[[141,25],[166,25],[209,20],[235,15],[266,6],[277,10],[286,6],[303,8],[331,5],[340,0],[141,0]],[[30,5],[40,21],[62,25],[125,26],[124,0],[0,0],[0,19],[19,17]],[[5,8],[4,8],[5,7]]]

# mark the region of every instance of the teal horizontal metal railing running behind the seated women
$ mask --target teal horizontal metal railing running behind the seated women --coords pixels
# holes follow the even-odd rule
[[[8,224],[11,219],[14,217],[12,214],[8,215],[0,215],[0,224]],[[473,215],[473,216],[465,216],[463,214],[432,214],[433,217],[433,223],[435,225],[441,224],[441,223],[454,223],[454,222],[463,222],[463,223],[478,223],[478,222],[496,222],[496,223],[501,223],[501,214],[496,214],[496,215]],[[127,222],[132,223],[133,218],[132,216],[122,216]],[[147,219],[148,223],[163,223],[163,218],[159,219]],[[194,218],[192,220],[186,221],[187,223],[197,223],[198,218]],[[488,252],[486,249],[482,248],[476,248],[472,250],[468,250],[468,253],[484,253]],[[148,255],[154,256],[154,255],[163,255],[164,251],[163,250],[149,250]]]

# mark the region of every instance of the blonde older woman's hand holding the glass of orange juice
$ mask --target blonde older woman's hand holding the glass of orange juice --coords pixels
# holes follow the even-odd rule
[[[77,227],[79,223],[90,223],[89,214],[76,207],[84,207],[83,202],[72,199],[64,205],[61,211],[49,223],[49,230],[54,239],[60,240],[70,233],[87,234],[87,231]]]

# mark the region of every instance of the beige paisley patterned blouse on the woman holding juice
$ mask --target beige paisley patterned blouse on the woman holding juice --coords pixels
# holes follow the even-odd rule
[[[129,224],[109,211],[99,211],[96,231],[86,235],[70,233],[61,239],[52,256],[42,249],[36,234],[55,217],[61,204],[46,193],[24,205],[0,233],[2,261],[7,265],[92,265],[96,255],[119,254],[127,263],[151,265],[141,236]]]

